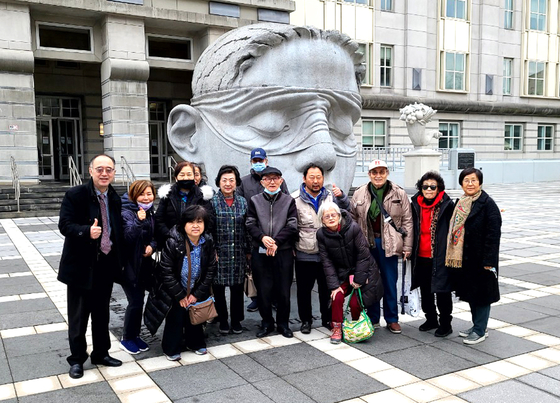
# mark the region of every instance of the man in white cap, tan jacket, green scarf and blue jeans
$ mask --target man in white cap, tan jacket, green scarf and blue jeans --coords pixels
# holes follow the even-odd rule
[[[412,210],[406,192],[387,180],[389,168],[385,161],[373,160],[368,175],[370,182],[358,188],[352,197],[352,217],[362,228],[381,272],[387,329],[398,334],[401,333],[397,305],[398,258],[407,259],[412,252]],[[379,323],[379,302],[368,307],[368,316],[372,323]]]

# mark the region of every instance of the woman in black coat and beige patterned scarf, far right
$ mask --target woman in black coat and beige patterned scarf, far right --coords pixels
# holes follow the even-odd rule
[[[482,172],[467,168],[459,175],[465,194],[451,218],[445,264],[454,289],[469,303],[473,326],[459,332],[463,343],[477,344],[487,337],[490,304],[500,300],[498,261],[502,217],[498,206],[482,190]]]

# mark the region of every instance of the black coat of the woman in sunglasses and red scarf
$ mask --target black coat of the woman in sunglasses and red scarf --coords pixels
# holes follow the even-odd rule
[[[416,259],[418,258],[418,247],[420,242],[420,216],[421,207],[418,204],[418,192],[412,197],[412,220],[414,222],[414,243],[412,255],[412,289],[420,286],[421,279],[416,271]],[[445,253],[447,251],[447,234],[449,232],[449,221],[453,215],[453,201],[443,193],[440,201],[439,213],[436,223],[436,237],[433,245],[434,256],[432,260],[432,292],[450,292],[451,279],[449,276],[449,268],[445,266]]]

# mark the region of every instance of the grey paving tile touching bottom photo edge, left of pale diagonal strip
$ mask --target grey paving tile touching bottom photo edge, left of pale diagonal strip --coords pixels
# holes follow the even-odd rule
[[[382,383],[342,363],[298,372],[283,379],[321,403],[339,402],[387,389]]]

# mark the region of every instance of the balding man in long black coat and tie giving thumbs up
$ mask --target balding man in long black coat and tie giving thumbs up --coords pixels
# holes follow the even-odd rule
[[[58,280],[68,294],[70,377],[81,378],[88,358],[86,329],[92,322],[91,363],[118,367],[109,356],[109,301],[113,281],[122,271],[121,199],[111,186],[115,160],[97,155],[89,165],[91,180],[66,192],[58,228],[65,236]]]

